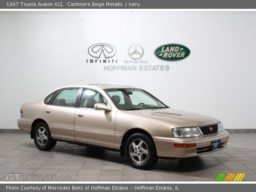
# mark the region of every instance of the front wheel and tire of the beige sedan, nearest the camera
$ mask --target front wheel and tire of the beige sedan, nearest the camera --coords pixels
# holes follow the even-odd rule
[[[125,155],[136,169],[148,169],[158,160],[154,142],[142,133],[129,136],[125,143]]]

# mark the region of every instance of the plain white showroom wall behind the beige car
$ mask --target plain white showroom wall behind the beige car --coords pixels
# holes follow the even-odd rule
[[[170,70],[106,72],[87,64],[89,46],[101,42],[116,47],[120,65],[139,43],[142,59]],[[168,43],[186,45],[190,56],[159,60],[154,49]],[[226,128],[256,128],[255,54],[255,12],[2,12],[0,128],[18,128],[22,103],[89,83],[140,87],[173,108],[219,118]]]

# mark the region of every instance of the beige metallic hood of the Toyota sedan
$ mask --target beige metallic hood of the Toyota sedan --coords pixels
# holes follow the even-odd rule
[[[196,127],[220,122],[220,120],[210,116],[174,108],[134,110],[127,112],[148,118],[164,120],[170,122],[175,127]]]

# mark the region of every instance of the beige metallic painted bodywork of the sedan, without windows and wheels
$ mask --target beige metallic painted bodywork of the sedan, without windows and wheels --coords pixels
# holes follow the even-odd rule
[[[35,120],[40,119],[48,124],[53,139],[93,144],[116,150],[120,150],[124,134],[131,129],[137,128],[150,134],[154,140],[159,157],[185,158],[198,156],[199,154],[196,153],[196,148],[208,147],[214,140],[220,140],[220,143],[222,143],[222,148],[218,150],[222,150],[227,146],[229,134],[225,130],[210,136],[191,138],[174,138],[172,135],[172,128],[198,127],[202,125],[216,124],[220,122],[216,118],[173,108],[123,111],[119,110],[114,105],[111,98],[104,91],[104,89],[111,88],[133,87],[111,85],[68,87],[84,87],[97,90],[106,98],[108,101],[108,108],[111,109],[111,111],[44,104],[44,99],[52,93],[53,90],[38,102],[22,105],[23,117],[18,120],[19,128],[30,134],[32,123]],[[50,113],[47,113],[49,111]],[[82,114],[82,117],[79,117],[80,114]],[[196,147],[175,148],[174,143],[195,143]],[[206,153],[209,152],[202,154]]]

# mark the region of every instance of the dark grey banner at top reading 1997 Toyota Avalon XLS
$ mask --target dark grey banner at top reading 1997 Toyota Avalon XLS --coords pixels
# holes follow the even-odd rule
[[[1,0],[0,9],[255,9],[253,0]]]

